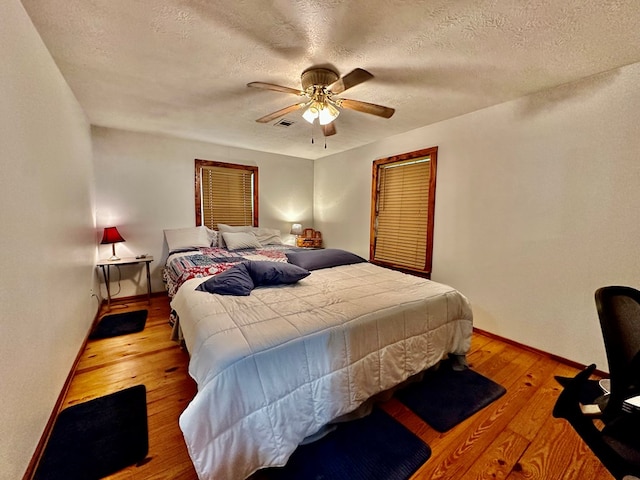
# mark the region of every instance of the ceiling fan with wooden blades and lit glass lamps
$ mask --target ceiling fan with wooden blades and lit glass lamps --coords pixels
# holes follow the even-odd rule
[[[322,126],[322,132],[328,137],[336,133],[333,121],[340,114],[341,108],[348,108],[383,118],[391,118],[394,114],[395,109],[390,107],[335,96],[372,78],[373,75],[362,68],[356,68],[340,78],[335,71],[329,68],[311,67],[302,72],[302,90],[264,82],[251,82],[247,86],[306,97],[304,101],[265,115],[257,119],[256,122],[268,123],[287,113],[306,108],[302,117],[312,124],[317,118]]]

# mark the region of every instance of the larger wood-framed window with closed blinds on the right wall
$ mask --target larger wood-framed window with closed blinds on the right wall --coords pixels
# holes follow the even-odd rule
[[[429,276],[438,147],[373,162],[372,263]]]

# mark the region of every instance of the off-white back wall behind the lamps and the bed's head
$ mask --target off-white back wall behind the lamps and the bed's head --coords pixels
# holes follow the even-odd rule
[[[116,244],[118,256],[154,256],[153,291],[165,290],[163,230],[195,225],[196,158],[258,166],[260,226],[279,229],[285,240],[291,223],[313,226],[312,160],[109,128],[93,127],[92,136],[97,225],[100,231],[118,227],[126,240]],[[108,257],[110,248],[100,246],[100,257]],[[121,273],[118,296],[146,292],[142,268],[126,267]],[[112,294],[118,292],[117,283],[112,288]]]

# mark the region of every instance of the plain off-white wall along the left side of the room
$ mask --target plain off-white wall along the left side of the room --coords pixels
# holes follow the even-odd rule
[[[0,16],[0,478],[21,478],[98,303],[89,124],[18,0]]]

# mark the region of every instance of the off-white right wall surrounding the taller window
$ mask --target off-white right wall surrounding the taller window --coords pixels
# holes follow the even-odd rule
[[[316,227],[368,256],[372,161],[438,146],[432,279],[477,327],[606,370],[594,291],[640,287],[638,85],[635,64],[318,160]]]

